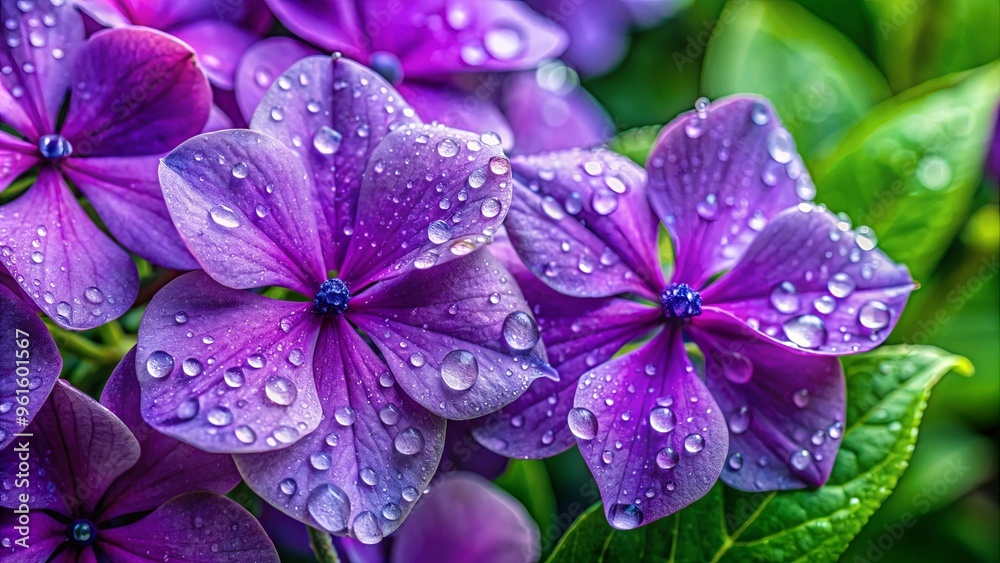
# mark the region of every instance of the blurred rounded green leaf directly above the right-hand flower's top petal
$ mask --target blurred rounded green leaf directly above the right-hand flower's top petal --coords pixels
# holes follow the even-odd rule
[[[726,11],[732,18],[708,46],[702,89],[711,98],[751,92],[770,99],[807,162],[821,141],[889,96],[875,65],[802,6],[733,0]]]

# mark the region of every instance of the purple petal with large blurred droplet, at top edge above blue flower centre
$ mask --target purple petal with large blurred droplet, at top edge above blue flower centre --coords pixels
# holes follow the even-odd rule
[[[534,68],[567,44],[562,28],[521,2],[403,3],[388,25],[383,3],[362,2],[361,11],[369,51],[394,53],[411,78]]]

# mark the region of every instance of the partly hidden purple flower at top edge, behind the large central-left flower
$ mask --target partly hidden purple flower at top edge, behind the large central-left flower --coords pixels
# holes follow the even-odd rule
[[[557,56],[562,29],[511,0],[269,0],[290,30],[323,49],[344,53],[393,83],[425,119],[476,132],[513,135],[493,103],[502,78]],[[310,54],[287,39],[268,39],[240,63],[236,94],[245,115],[283,64]],[[482,74],[487,73],[487,74]]]

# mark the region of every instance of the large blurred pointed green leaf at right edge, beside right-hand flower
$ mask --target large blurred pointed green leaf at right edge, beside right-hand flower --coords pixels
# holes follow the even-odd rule
[[[991,63],[880,104],[810,167],[817,201],[873,227],[889,256],[927,276],[966,221],[998,92]]]

